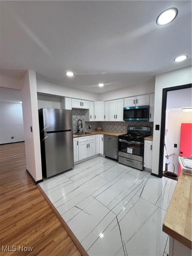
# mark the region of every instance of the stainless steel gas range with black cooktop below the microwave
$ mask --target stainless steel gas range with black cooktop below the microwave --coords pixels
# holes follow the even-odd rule
[[[142,171],[144,160],[144,138],[150,135],[151,127],[128,126],[127,134],[119,136],[119,163]]]

